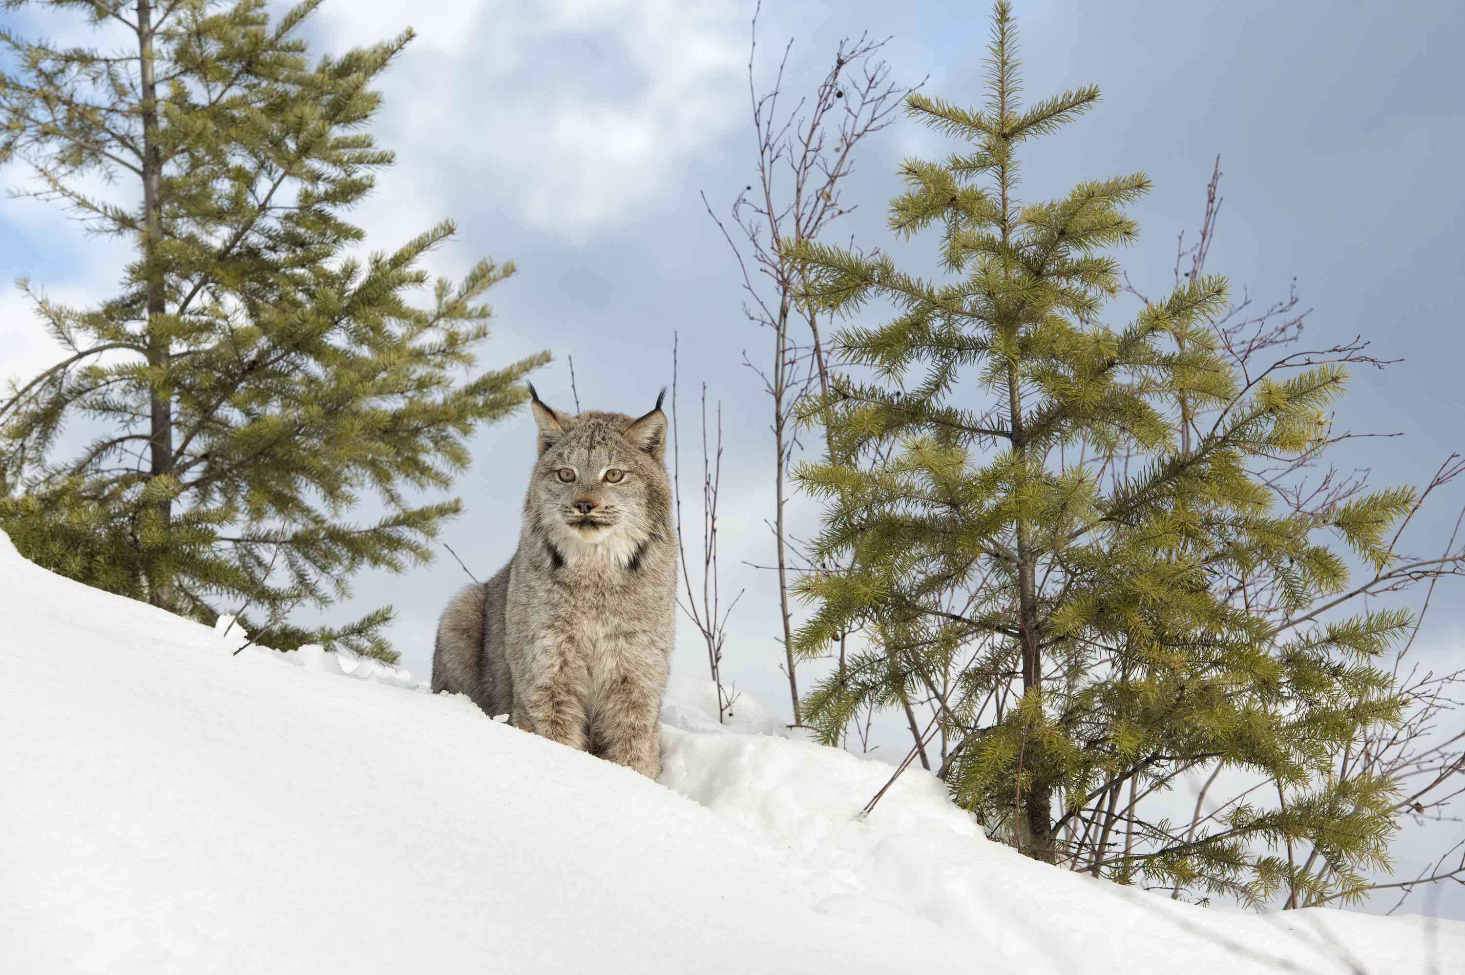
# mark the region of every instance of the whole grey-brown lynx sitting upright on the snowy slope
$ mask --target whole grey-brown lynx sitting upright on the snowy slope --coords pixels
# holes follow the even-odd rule
[[[519,549],[448,603],[432,690],[655,779],[677,587],[661,397],[640,419],[532,408]]]

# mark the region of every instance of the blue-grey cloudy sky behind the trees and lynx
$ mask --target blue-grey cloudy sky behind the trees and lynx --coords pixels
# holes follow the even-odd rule
[[[984,4],[769,3],[754,79],[766,88],[794,38],[787,89],[812,92],[838,40],[869,31],[891,38],[882,51],[891,81],[924,79],[930,94],[977,102],[987,13]],[[1207,269],[1263,305],[1295,280],[1313,309],[1310,343],[1362,335],[1370,351],[1402,359],[1357,375],[1338,417],[1340,429],[1403,436],[1355,441],[1338,457],[1370,467],[1380,485],[1428,482],[1465,444],[1461,6],[1020,0],[1015,13],[1030,100],[1087,83],[1103,92],[1094,111],[1028,154],[1024,192],[1052,198],[1083,179],[1146,171],[1153,190],[1130,211],[1141,237],[1121,259],[1140,290],[1159,293],[1172,280],[1176,234],[1190,240],[1198,227],[1219,154],[1223,206]],[[67,35],[34,12],[4,16],[22,31]],[[431,255],[434,272],[460,277],[482,256],[514,261],[517,275],[489,294],[483,366],[548,348],[555,362],[535,385],[568,408],[573,356],[582,406],[639,414],[671,382],[677,335],[684,483],[696,488],[700,470],[690,407],[702,382],[725,417],[722,593],[746,591],[724,672],[787,709],[776,587],[750,565],[768,565],[774,550],[769,403],[741,365],[744,354],[765,360],[771,337],[744,319],[737,266],[699,196],[725,218],[753,182],[752,16],[743,1],[327,0],[306,37],[315,51],[341,53],[416,31],[382,82],[374,127],[398,164],[355,217],[368,247],[382,250],[453,218],[459,234]],[[832,239],[891,249],[885,202],[900,189],[901,158],[954,148],[904,119],[872,136],[845,190],[858,208]],[[0,170],[6,186],[22,180],[15,167]],[[53,203],[0,201],[0,376],[28,376],[56,359],[12,280],[86,302],[110,293],[125,259],[125,246],[85,236]],[[1122,324],[1132,310],[1119,302],[1108,321]],[[481,430],[472,449],[475,464],[454,489],[466,512],[442,537],[486,578],[517,539],[533,460],[527,413]],[[1465,504],[1461,488],[1421,512],[1420,552],[1443,545]],[[694,490],[684,505],[684,518],[700,517]],[[817,511],[795,498],[790,512],[812,534]],[[686,545],[696,558],[696,537]],[[357,577],[352,603],[324,618],[341,622],[390,602],[403,665],[426,675],[437,615],[466,581],[444,552],[403,577]],[[1431,662],[1459,657],[1462,596],[1459,586],[1444,590],[1430,610],[1423,646]],[[674,670],[705,668],[696,631],[683,625]],[[886,754],[901,747],[898,736],[885,744]],[[1439,909],[1465,916],[1465,897]]]

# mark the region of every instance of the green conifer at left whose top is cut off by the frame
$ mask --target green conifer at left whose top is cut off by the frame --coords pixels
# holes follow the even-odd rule
[[[136,249],[95,307],[22,281],[64,357],[0,401],[0,528],[41,565],[205,622],[248,606],[272,646],[390,659],[390,608],[314,632],[281,619],[347,594],[359,568],[429,559],[460,502],[404,492],[448,488],[467,435],[548,356],[454,384],[513,265],[483,261],[412,305],[451,223],[343,253],[365,237],[346,212],[393,162],[368,132],[372,85],[412,32],[312,64],[297,34],[318,4],[275,23],[261,0],[37,4],[126,38],[108,53],[0,29],[0,161]],[[98,174],[114,198],[81,189]],[[78,422],[95,438],[59,457]],[[368,492],[390,512],[356,524]]]

